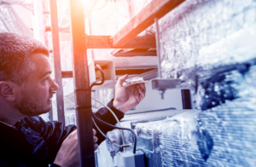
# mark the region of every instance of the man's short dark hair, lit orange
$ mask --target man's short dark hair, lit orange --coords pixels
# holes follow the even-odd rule
[[[34,68],[30,59],[33,53],[49,55],[49,51],[38,40],[25,35],[0,33],[0,81],[12,80],[23,83]]]

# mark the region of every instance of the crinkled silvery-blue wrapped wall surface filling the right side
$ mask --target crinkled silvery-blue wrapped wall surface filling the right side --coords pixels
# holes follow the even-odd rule
[[[160,43],[164,78],[183,80],[195,110],[132,124],[148,166],[256,166],[256,2],[187,0],[160,20]]]

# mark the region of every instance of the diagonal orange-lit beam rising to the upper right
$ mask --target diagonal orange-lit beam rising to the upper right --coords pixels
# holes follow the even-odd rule
[[[131,21],[113,36],[113,47],[124,46],[125,43],[137,37],[148,26],[154,24],[154,18],[161,18],[184,0],[153,0],[142,9]]]

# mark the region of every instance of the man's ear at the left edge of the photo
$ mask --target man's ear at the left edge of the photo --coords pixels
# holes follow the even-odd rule
[[[0,95],[7,101],[15,101],[14,84],[11,81],[0,81]]]

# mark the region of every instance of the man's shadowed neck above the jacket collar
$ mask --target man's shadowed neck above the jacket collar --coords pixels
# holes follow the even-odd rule
[[[17,109],[0,104],[0,121],[5,124],[15,125],[20,119],[26,116],[22,115]]]

